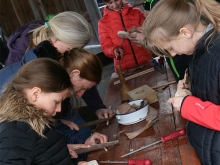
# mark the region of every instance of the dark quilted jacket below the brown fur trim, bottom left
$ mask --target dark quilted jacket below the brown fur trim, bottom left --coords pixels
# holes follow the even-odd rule
[[[42,138],[27,123],[0,123],[1,165],[72,165],[62,135],[46,128]]]

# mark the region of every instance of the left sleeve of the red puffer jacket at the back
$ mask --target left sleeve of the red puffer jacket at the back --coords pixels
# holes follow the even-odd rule
[[[116,46],[112,42],[112,39],[108,33],[108,29],[109,27],[107,27],[107,25],[105,25],[103,21],[99,21],[98,33],[102,51],[107,57],[114,58],[114,49],[116,48]]]

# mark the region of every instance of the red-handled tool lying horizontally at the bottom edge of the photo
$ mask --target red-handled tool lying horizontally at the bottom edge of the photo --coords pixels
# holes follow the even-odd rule
[[[129,159],[128,161],[100,161],[100,163],[126,163],[128,165],[151,165],[150,159]]]

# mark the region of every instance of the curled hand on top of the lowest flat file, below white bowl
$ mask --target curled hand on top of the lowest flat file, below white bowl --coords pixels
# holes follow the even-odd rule
[[[92,136],[90,136],[85,144],[87,145],[96,145],[97,142],[98,143],[106,143],[108,141],[108,138],[106,135],[100,134],[98,132],[95,132],[94,134],[92,134]]]

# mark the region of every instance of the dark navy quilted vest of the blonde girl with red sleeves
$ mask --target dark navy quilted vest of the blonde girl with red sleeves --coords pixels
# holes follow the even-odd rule
[[[193,96],[220,105],[220,33],[215,34],[207,49],[204,45],[211,32],[201,38],[194,50],[189,65],[190,83]],[[202,164],[220,164],[219,131],[189,122],[187,135]]]

